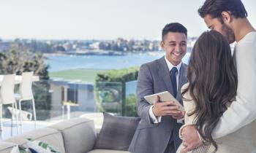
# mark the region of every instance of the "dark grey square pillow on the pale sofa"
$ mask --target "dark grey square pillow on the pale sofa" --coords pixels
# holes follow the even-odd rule
[[[117,117],[108,113],[103,115],[102,129],[94,149],[127,151],[140,119],[138,117]]]

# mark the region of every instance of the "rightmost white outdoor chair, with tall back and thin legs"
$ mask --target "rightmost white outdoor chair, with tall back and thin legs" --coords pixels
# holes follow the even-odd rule
[[[22,73],[22,79],[20,82],[20,94],[16,94],[16,98],[18,99],[19,103],[19,119],[20,119],[20,126],[22,125],[22,109],[21,109],[21,101],[31,101],[32,107],[33,107],[33,116],[34,116],[34,127],[37,128],[37,115],[36,115],[36,109],[34,106],[34,95],[32,92],[32,76],[34,72],[23,72]]]

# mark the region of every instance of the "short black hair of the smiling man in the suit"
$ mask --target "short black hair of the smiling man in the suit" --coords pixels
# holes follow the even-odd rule
[[[184,33],[187,36],[187,28],[181,25],[181,23],[169,23],[165,25],[165,28],[162,29],[162,40],[168,32]]]

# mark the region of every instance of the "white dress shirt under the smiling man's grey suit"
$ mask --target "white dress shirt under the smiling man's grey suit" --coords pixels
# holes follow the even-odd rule
[[[179,71],[180,71],[180,69],[181,69],[181,63],[178,63],[177,66],[173,66],[173,64],[170,63],[169,60],[167,60],[166,56],[165,56],[165,62],[167,63],[167,66],[168,66],[169,71],[170,71],[173,67],[176,67],[176,68],[178,69],[178,73],[176,73],[176,82],[177,82],[177,86],[176,86],[176,87],[177,87],[177,90],[178,90],[178,77],[179,77]],[[149,116],[151,117],[153,123],[159,123],[159,122],[161,122],[162,117],[156,117],[156,116],[154,115],[154,113],[153,113],[153,105],[152,105],[152,106],[150,107],[150,109],[149,109]],[[181,119],[181,121],[182,121],[182,120],[183,120],[183,119]]]

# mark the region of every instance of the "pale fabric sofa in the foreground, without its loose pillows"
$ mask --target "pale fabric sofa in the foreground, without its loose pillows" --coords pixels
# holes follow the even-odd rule
[[[45,141],[62,153],[128,153],[118,150],[93,149],[97,133],[94,121],[86,118],[69,119],[1,141],[0,153],[10,153],[13,146],[25,144],[26,138]]]

